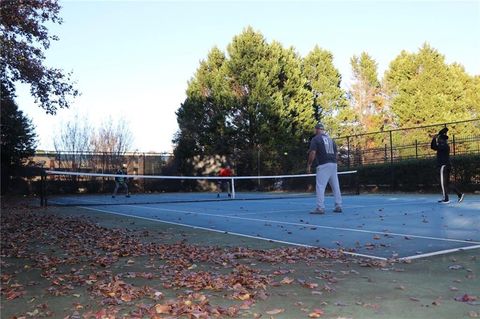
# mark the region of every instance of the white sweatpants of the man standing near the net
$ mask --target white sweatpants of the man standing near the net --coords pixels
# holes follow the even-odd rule
[[[335,196],[335,205],[342,206],[342,194],[340,193],[340,183],[338,182],[337,164],[326,163],[317,166],[317,208],[325,209],[325,188],[327,188],[327,183],[330,184],[333,195]]]

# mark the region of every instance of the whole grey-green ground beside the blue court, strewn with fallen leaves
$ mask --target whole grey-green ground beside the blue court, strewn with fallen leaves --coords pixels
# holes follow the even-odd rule
[[[480,318],[480,252],[354,259],[81,208],[8,204],[2,318]]]

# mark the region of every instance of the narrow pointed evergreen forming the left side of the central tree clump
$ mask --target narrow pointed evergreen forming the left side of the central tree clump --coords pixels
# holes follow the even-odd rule
[[[225,54],[213,48],[188,83],[187,98],[176,113],[176,158],[231,155],[232,124],[227,119],[231,98],[225,71]],[[177,165],[182,172],[193,169],[191,161],[182,160]]]

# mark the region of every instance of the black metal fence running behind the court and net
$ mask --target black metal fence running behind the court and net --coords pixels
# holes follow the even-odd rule
[[[349,169],[371,164],[395,163],[434,157],[435,151],[430,149],[431,139],[443,127],[450,129],[451,156],[480,154],[480,119],[472,119],[337,137],[335,141],[339,150],[339,166]],[[306,163],[307,150],[285,151],[284,154],[278,159],[281,163],[278,162],[275,165],[281,166],[282,171],[274,172],[266,162],[270,156],[262,152],[261,148],[254,150],[251,156],[244,156],[253,159],[254,163],[251,165],[251,169],[247,168],[247,171],[243,172],[242,170],[240,173],[242,175],[271,175],[272,173],[297,174],[302,172]],[[37,166],[47,169],[112,173],[124,164],[127,165],[129,174],[182,175],[176,172],[173,167],[170,167],[168,172],[165,171],[168,164],[173,162],[172,160],[173,154],[166,152],[116,154],[66,151],[38,151],[33,159]],[[239,163],[232,162],[232,164],[234,164],[234,170],[239,169],[239,167],[236,167],[236,164]]]

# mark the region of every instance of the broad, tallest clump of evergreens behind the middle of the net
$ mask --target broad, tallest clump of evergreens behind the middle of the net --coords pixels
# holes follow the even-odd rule
[[[213,49],[189,82],[177,112],[176,154],[224,155],[238,174],[298,166],[286,153],[301,156],[303,166],[315,118],[298,54],[252,28],[235,36],[227,53]]]

